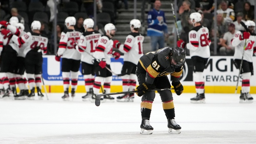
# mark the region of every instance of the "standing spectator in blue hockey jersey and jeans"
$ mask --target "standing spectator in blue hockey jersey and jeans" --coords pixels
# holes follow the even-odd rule
[[[147,16],[147,35],[151,38],[152,51],[156,51],[164,47],[164,36],[169,36],[164,11],[160,10],[160,7],[161,1],[156,0],[154,2],[154,8],[149,11]],[[156,47],[157,44],[159,47]]]

